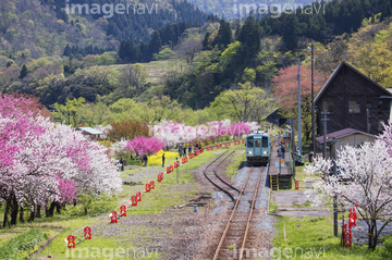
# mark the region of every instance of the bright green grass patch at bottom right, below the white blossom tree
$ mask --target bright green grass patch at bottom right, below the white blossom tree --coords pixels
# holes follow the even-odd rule
[[[284,239],[284,226],[286,239]],[[332,218],[285,218],[279,216],[275,224],[277,237],[273,239],[275,249],[273,259],[391,259],[392,255],[385,247],[375,251],[367,246],[353,244],[352,248],[342,248],[340,237],[333,236]]]

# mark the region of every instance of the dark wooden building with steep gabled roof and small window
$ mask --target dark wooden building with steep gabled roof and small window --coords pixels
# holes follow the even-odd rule
[[[324,134],[321,112],[329,112],[326,134],[352,128],[378,135],[383,131],[381,122],[391,119],[391,101],[389,90],[342,62],[315,98],[316,135]]]

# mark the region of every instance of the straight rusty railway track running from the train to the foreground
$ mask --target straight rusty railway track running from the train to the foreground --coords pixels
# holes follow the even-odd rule
[[[255,203],[260,187],[262,168],[249,170],[248,176],[240,190],[224,232],[213,255],[217,259],[244,259],[245,248],[252,244],[250,223],[255,212]],[[258,210],[257,210],[258,211]]]

